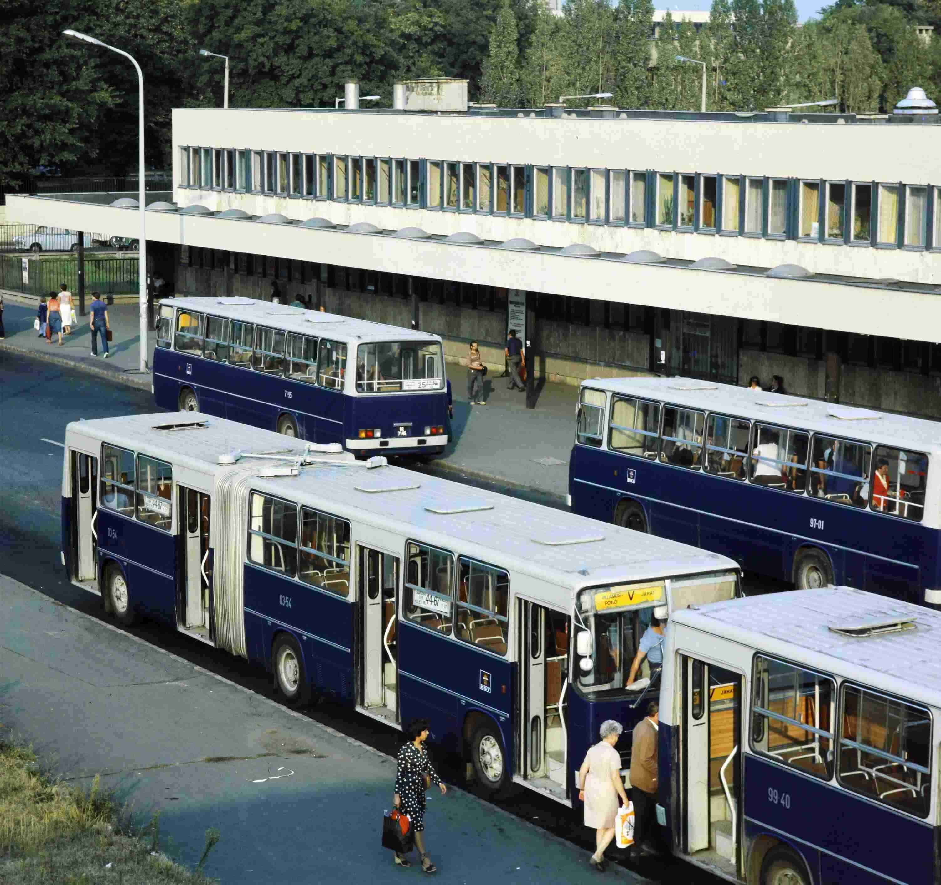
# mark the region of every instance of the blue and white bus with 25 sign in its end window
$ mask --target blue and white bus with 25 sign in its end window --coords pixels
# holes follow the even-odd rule
[[[431,456],[448,442],[446,384],[438,335],[252,298],[160,302],[153,394],[162,409],[358,454]]]

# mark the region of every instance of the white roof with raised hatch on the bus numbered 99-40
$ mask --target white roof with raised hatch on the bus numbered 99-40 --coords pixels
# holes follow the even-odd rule
[[[914,629],[849,636],[834,628],[915,621]],[[676,625],[795,664],[941,707],[941,612],[853,587],[787,590],[686,608]],[[696,648],[709,657],[708,643]]]

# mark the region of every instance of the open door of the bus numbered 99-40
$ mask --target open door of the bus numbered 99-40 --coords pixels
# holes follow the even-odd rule
[[[737,876],[742,857],[740,810],[742,677],[682,657],[682,850]]]

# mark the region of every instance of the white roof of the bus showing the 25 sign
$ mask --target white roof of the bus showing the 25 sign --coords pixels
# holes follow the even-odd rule
[[[317,337],[333,338],[351,344],[379,341],[440,341],[432,332],[387,326],[368,319],[340,314],[309,311],[287,304],[272,304],[257,298],[163,298],[161,304],[182,307],[200,314],[227,316],[244,323],[258,323],[272,329],[283,329]]]

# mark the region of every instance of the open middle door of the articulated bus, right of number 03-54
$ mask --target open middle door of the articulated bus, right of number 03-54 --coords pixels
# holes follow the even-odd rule
[[[358,545],[359,706],[399,721],[399,557]]]

